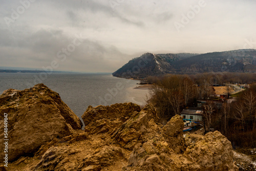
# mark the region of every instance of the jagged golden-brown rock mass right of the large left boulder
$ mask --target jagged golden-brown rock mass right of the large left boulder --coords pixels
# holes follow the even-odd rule
[[[73,130],[74,134],[68,131],[65,137],[55,137],[41,145],[33,157],[20,157],[9,168],[237,170],[232,161],[231,143],[221,133],[216,131],[196,139],[184,136],[180,116],[162,125],[150,104],[142,110],[133,103],[89,106],[82,118],[86,123],[84,131]]]

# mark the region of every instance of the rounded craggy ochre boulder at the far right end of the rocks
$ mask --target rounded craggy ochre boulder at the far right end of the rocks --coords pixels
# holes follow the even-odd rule
[[[232,145],[220,132],[210,132],[186,148],[184,156],[193,170],[235,170]],[[193,164],[192,164],[193,163]]]

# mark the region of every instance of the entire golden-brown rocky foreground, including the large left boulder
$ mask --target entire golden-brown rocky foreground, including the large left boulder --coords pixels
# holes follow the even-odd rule
[[[0,113],[1,130],[8,114],[10,139],[8,168],[0,170],[238,170],[221,133],[183,135],[180,116],[162,125],[150,104],[89,106],[82,131],[59,95],[37,84],[5,91]],[[2,164],[3,152],[0,157]]]

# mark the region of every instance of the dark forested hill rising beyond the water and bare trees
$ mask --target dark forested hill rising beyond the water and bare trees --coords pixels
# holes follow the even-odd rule
[[[123,78],[143,78],[166,73],[256,73],[256,50],[243,49],[205,54],[153,54],[134,58],[113,73]]]

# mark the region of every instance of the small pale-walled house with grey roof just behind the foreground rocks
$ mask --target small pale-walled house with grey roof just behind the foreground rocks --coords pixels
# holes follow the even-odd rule
[[[183,119],[191,119],[191,121],[203,121],[202,110],[184,109],[180,115]]]

